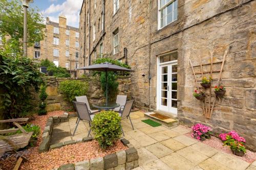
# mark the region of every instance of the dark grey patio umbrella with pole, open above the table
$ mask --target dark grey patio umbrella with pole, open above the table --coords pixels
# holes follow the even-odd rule
[[[78,69],[84,70],[94,70],[94,71],[104,71],[106,73],[106,103],[108,103],[108,71],[134,71],[125,67],[121,67],[109,62],[101,63],[101,64],[94,64],[89,65],[86,67],[80,67]]]

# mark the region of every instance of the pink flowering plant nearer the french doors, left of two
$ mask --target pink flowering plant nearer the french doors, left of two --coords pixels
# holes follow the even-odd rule
[[[201,141],[209,139],[212,134],[211,128],[203,124],[196,124],[191,129],[193,131],[192,136]]]

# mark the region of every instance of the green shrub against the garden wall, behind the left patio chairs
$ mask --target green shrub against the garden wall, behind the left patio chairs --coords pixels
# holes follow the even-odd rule
[[[86,95],[88,91],[88,83],[78,80],[66,80],[60,82],[59,90],[66,95],[69,102],[75,101],[75,96]]]

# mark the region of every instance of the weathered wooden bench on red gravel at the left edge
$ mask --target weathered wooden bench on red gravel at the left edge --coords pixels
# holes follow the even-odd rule
[[[13,123],[17,128],[15,129],[5,129],[0,130],[0,135],[6,133],[17,132],[18,130],[22,131],[22,133],[10,135],[10,136],[1,136],[0,138],[0,157],[8,151],[15,151],[24,148],[29,144],[29,140],[33,135],[33,132],[26,132],[25,129],[19,124],[19,122],[24,123],[28,122],[29,118],[16,118],[16,119],[8,119],[8,120],[0,120],[0,123]],[[27,160],[25,157],[20,155],[14,169],[18,169],[23,159]]]

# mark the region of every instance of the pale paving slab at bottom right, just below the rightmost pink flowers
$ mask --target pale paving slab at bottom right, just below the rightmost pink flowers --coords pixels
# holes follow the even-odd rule
[[[211,158],[222,164],[227,164],[228,167],[236,170],[244,170],[249,166],[248,162],[241,160],[239,158],[236,158],[232,155],[226,154],[224,152],[218,152]]]

